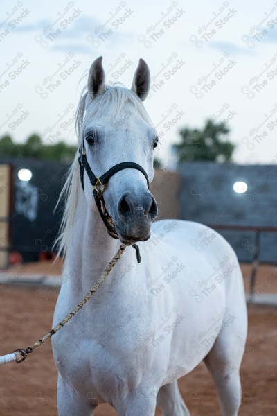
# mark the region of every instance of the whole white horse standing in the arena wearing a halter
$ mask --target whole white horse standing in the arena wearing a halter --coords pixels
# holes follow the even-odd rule
[[[98,58],[78,107],[80,151],[63,191],[65,264],[54,324],[97,281],[120,241],[137,243],[142,261],[127,247],[96,296],[53,336],[60,416],[93,415],[104,402],[120,416],[153,416],[157,405],[165,416],[189,415],[177,379],[202,360],[222,415],[238,415],[247,334],[240,266],[222,236],[199,223],[157,221],[150,237],[157,205],[148,180],[159,139],[142,103],[149,88],[143,60],[129,90],[105,85]],[[96,185],[105,224],[91,183],[113,166],[120,167],[103,194]]]

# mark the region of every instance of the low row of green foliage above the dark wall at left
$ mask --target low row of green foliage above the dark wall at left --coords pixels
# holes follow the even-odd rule
[[[39,135],[30,135],[25,143],[15,143],[9,135],[0,138],[0,155],[32,157],[34,159],[69,162],[73,159],[77,146],[69,146],[64,141],[44,144]]]

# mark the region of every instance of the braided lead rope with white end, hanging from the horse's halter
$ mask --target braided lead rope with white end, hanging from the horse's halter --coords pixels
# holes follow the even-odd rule
[[[53,327],[53,329],[51,329],[50,332],[47,332],[40,340],[36,341],[35,344],[31,345],[30,347],[28,347],[26,349],[16,349],[11,354],[6,354],[4,356],[0,356],[0,365],[10,363],[11,361],[16,361],[17,363],[21,363],[22,361],[25,360],[27,354],[30,354],[31,352],[33,352],[33,350],[35,348],[40,347],[40,345],[42,345],[44,343],[44,341],[48,340],[48,338],[51,338],[51,336],[53,336],[54,333],[56,333],[62,327],[64,327],[66,322],[69,322],[69,320],[71,320],[71,318],[74,315],[76,315],[76,313],[78,311],[80,311],[82,306],[84,306],[84,304],[86,304],[87,301],[91,297],[93,297],[94,293],[96,293],[98,288],[100,288],[100,286],[104,283],[105,279],[107,278],[107,276],[111,272],[111,269],[116,265],[116,263],[120,259],[121,254],[123,253],[125,248],[126,248],[125,244],[120,245],[120,248],[119,248],[118,252],[114,256],[114,258],[111,259],[111,261],[109,262],[108,266],[105,268],[105,271],[102,273],[101,277],[98,279],[96,284],[91,288],[90,291],[88,291],[87,295],[84,295],[81,302],[78,303],[78,305],[75,306],[75,308],[71,312],[69,312],[66,315],[66,317],[63,320],[61,320],[61,322],[59,324],[57,324],[55,327]]]

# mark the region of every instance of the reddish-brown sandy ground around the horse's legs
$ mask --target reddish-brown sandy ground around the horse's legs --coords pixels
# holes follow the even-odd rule
[[[43,286],[0,285],[0,354],[26,348],[51,328],[57,293]],[[249,306],[240,415],[277,415],[276,336],[276,308]],[[56,377],[48,341],[24,363],[1,366],[0,416],[57,415]],[[180,379],[179,388],[192,416],[220,415],[213,381],[204,364]],[[96,416],[107,415],[117,413],[100,405]],[[156,415],[161,415],[159,409]]]

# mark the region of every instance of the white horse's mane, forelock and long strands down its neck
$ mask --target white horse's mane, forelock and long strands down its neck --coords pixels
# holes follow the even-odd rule
[[[73,163],[69,168],[69,172],[66,173],[67,179],[62,188],[60,198],[57,201],[57,205],[64,201],[64,213],[62,215],[62,223],[60,225],[59,236],[55,241],[55,247],[57,247],[57,254],[66,255],[66,250],[71,240],[71,231],[75,220],[75,211],[78,203],[78,191],[81,187],[80,182],[80,167],[78,163],[79,146],[82,141],[82,130],[84,128],[85,120],[97,119],[97,117],[105,112],[109,114],[109,123],[116,123],[123,113],[123,108],[127,103],[131,103],[134,106],[135,112],[138,116],[141,116],[145,121],[152,125],[150,118],[143,107],[143,103],[134,92],[122,87],[121,85],[106,85],[104,94],[95,98],[91,105],[89,105],[89,111],[86,112],[86,104],[90,101],[87,87],[82,90],[80,102],[76,112],[75,130],[78,135],[78,150],[75,154]]]

